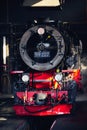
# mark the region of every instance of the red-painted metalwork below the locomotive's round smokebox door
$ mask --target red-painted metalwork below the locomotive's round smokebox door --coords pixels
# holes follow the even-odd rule
[[[22,71],[21,71],[22,72]],[[19,72],[12,72],[17,74]],[[48,115],[62,115],[70,114],[73,108],[72,104],[68,103],[68,91],[62,91],[59,87],[61,86],[55,81],[55,70],[47,72],[35,72],[29,73],[30,83],[26,91],[17,91],[17,97],[23,101],[22,104],[14,105],[16,115],[20,116],[48,116]],[[68,73],[73,76],[73,79],[80,84],[80,70],[62,70],[62,73]],[[57,85],[56,85],[57,84]],[[55,87],[56,86],[56,87]],[[33,90],[29,90],[32,87]],[[46,89],[46,91],[44,90]],[[48,89],[48,90],[47,90]],[[43,93],[50,95],[54,99],[54,104],[48,101],[46,104],[38,105],[35,104],[33,99],[34,94]],[[66,97],[65,103],[60,103],[63,95]]]

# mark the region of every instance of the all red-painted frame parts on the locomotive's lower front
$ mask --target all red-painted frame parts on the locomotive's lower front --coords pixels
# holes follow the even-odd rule
[[[23,71],[12,71],[11,74],[22,74]],[[73,79],[77,82],[78,87],[81,80],[80,70],[62,70],[63,73],[70,73],[73,75]],[[55,74],[55,70],[47,71],[47,72],[37,72],[34,73],[34,77],[32,78],[32,73],[30,73],[30,84],[32,84],[34,80],[34,87],[37,89],[36,91],[25,91],[25,92],[16,92],[16,95],[19,99],[21,99],[24,102],[24,105],[14,105],[13,109],[16,112],[16,115],[20,116],[48,116],[48,115],[63,115],[63,114],[70,114],[71,110],[73,109],[73,104],[64,103],[58,103],[52,106],[52,104],[47,105],[35,105],[32,102],[32,97],[34,93],[39,93],[38,88],[41,89],[44,86],[47,88],[50,88],[49,91],[42,91],[43,93],[51,94],[51,97],[56,98],[56,88],[52,90],[52,83],[50,80],[53,77],[53,73]],[[33,80],[32,80],[33,79]],[[41,81],[42,80],[42,81]],[[37,82],[38,81],[38,82]],[[53,83],[55,85],[55,80],[53,80]],[[57,88],[59,85],[57,84]],[[51,91],[52,90],[52,91]],[[58,98],[61,98],[62,95],[65,94],[68,95],[68,91],[58,91]],[[30,102],[31,101],[31,102]]]

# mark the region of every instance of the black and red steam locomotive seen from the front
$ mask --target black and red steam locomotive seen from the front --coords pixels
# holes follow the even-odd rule
[[[20,60],[11,70],[16,114],[70,114],[81,87],[82,48],[67,24],[35,20],[21,37],[18,51]]]

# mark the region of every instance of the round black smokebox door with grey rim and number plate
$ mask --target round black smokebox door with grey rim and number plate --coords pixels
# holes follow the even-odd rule
[[[38,33],[39,29],[44,30],[43,35]],[[24,33],[19,50],[25,64],[32,69],[45,71],[60,64],[65,53],[65,42],[55,27],[42,24]]]

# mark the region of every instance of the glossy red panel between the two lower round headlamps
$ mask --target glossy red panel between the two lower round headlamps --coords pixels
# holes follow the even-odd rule
[[[30,73],[30,86],[34,88],[52,88],[53,71]]]

